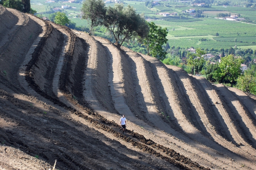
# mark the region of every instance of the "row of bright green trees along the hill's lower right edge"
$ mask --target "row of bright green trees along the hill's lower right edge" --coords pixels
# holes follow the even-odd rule
[[[196,53],[188,53],[184,63],[191,67],[191,75],[200,72],[206,75],[206,79],[211,82],[226,83],[231,86],[236,85],[238,89],[256,94],[256,64],[251,70],[246,70],[242,74],[242,57],[229,54],[221,57],[220,63],[210,64],[204,59],[204,50],[196,49]],[[200,71],[201,70],[201,71]]]

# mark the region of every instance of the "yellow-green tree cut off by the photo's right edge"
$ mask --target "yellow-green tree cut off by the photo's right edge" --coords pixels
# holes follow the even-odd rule
[[[243,75],[237,78],[238,89],[244,92],[256,93],[256,78],[252,75],[252,72],[245,71]]]

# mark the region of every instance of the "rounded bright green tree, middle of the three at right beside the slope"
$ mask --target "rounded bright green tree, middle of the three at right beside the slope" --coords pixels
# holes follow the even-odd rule
[[[238,76],[241,75],[241,57],[235,57],[230,54],[221,58],[219,68],[214,72],[213,77],[222,83],[225,78],[231,82],[231,86],[235,83]]]

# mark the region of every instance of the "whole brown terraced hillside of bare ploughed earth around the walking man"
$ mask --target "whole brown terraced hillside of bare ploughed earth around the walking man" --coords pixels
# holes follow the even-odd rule
[[[0,35],[1,170],[256,169],[255,96],[2,6]]]

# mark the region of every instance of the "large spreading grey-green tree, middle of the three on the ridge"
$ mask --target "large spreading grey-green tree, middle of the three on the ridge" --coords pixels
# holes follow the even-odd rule
[[[125,39],[143,38],[148,34],[148,25],[144,16],[137,14],[130,5],[126,7],[124,4],[108,6],[104,26],[113,33],[118,48]]]

